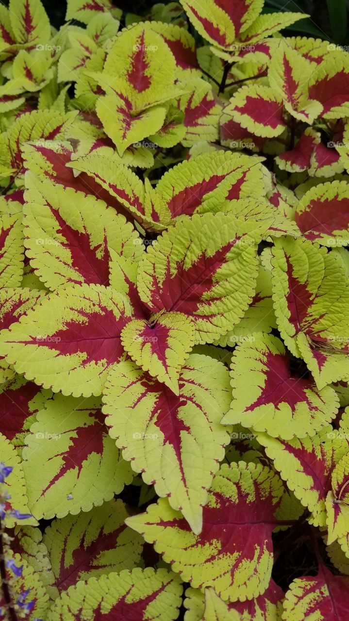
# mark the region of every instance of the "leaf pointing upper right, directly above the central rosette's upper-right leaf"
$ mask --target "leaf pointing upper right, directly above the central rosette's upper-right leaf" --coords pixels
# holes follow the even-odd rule
[[[165,202],[172,219],[193,215],[201,206],[205,211],[219,211],[212,205],[221,207],[222,199],[235,198],[249,171],[258,181],[259,160],[229,151],[202,153],[167,171],[156,186],[156,194]],[[248,188],[251,189],[250,185]],[[214,191],[219,194],[216,200]]]

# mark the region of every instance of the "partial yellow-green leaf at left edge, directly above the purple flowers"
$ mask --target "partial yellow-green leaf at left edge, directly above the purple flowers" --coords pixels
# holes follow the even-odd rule
[[[8,511],[6,515],[6,527],[13,528],[19,522],[16,515],[10,515],[9,511],[18,511],[20,514],[26,515],[20,520],[20,524],[28,524],[30,526],[37,525],[37,520],[30,514],[27,498],[27,486],[16,448],[7,440],[6,436],[0,433],[0,455],[2,463],[8,468],[12,468],[12,472],[7,476],[1,486],[1,502],[4,504],[4,510]],[[4,494],[7,498],[4,498]],[[29,517],[30,516],[30,517]]]

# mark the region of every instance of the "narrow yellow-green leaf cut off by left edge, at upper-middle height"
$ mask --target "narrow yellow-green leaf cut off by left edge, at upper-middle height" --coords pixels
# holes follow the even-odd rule
[[[24,269],[22,205],[0,202],[0,286],[19,287]]]

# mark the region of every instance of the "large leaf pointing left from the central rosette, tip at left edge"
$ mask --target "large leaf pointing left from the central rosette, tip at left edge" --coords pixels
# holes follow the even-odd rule
[[[2,330],[0,355],[43,388],[98,395],[124,358],[120,334],[130,315],[129,302],[113,289],[68,284]]]

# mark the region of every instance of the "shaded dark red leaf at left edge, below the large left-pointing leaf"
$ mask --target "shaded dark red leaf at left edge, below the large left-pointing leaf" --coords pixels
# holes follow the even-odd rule
[[[14,446],[24,446],[24,438],[35,421],[35,415],[51,396],[51,391],[40,390],[40,386],[27,382],[20,375],[2,384],[0,427],[1,432]]]

